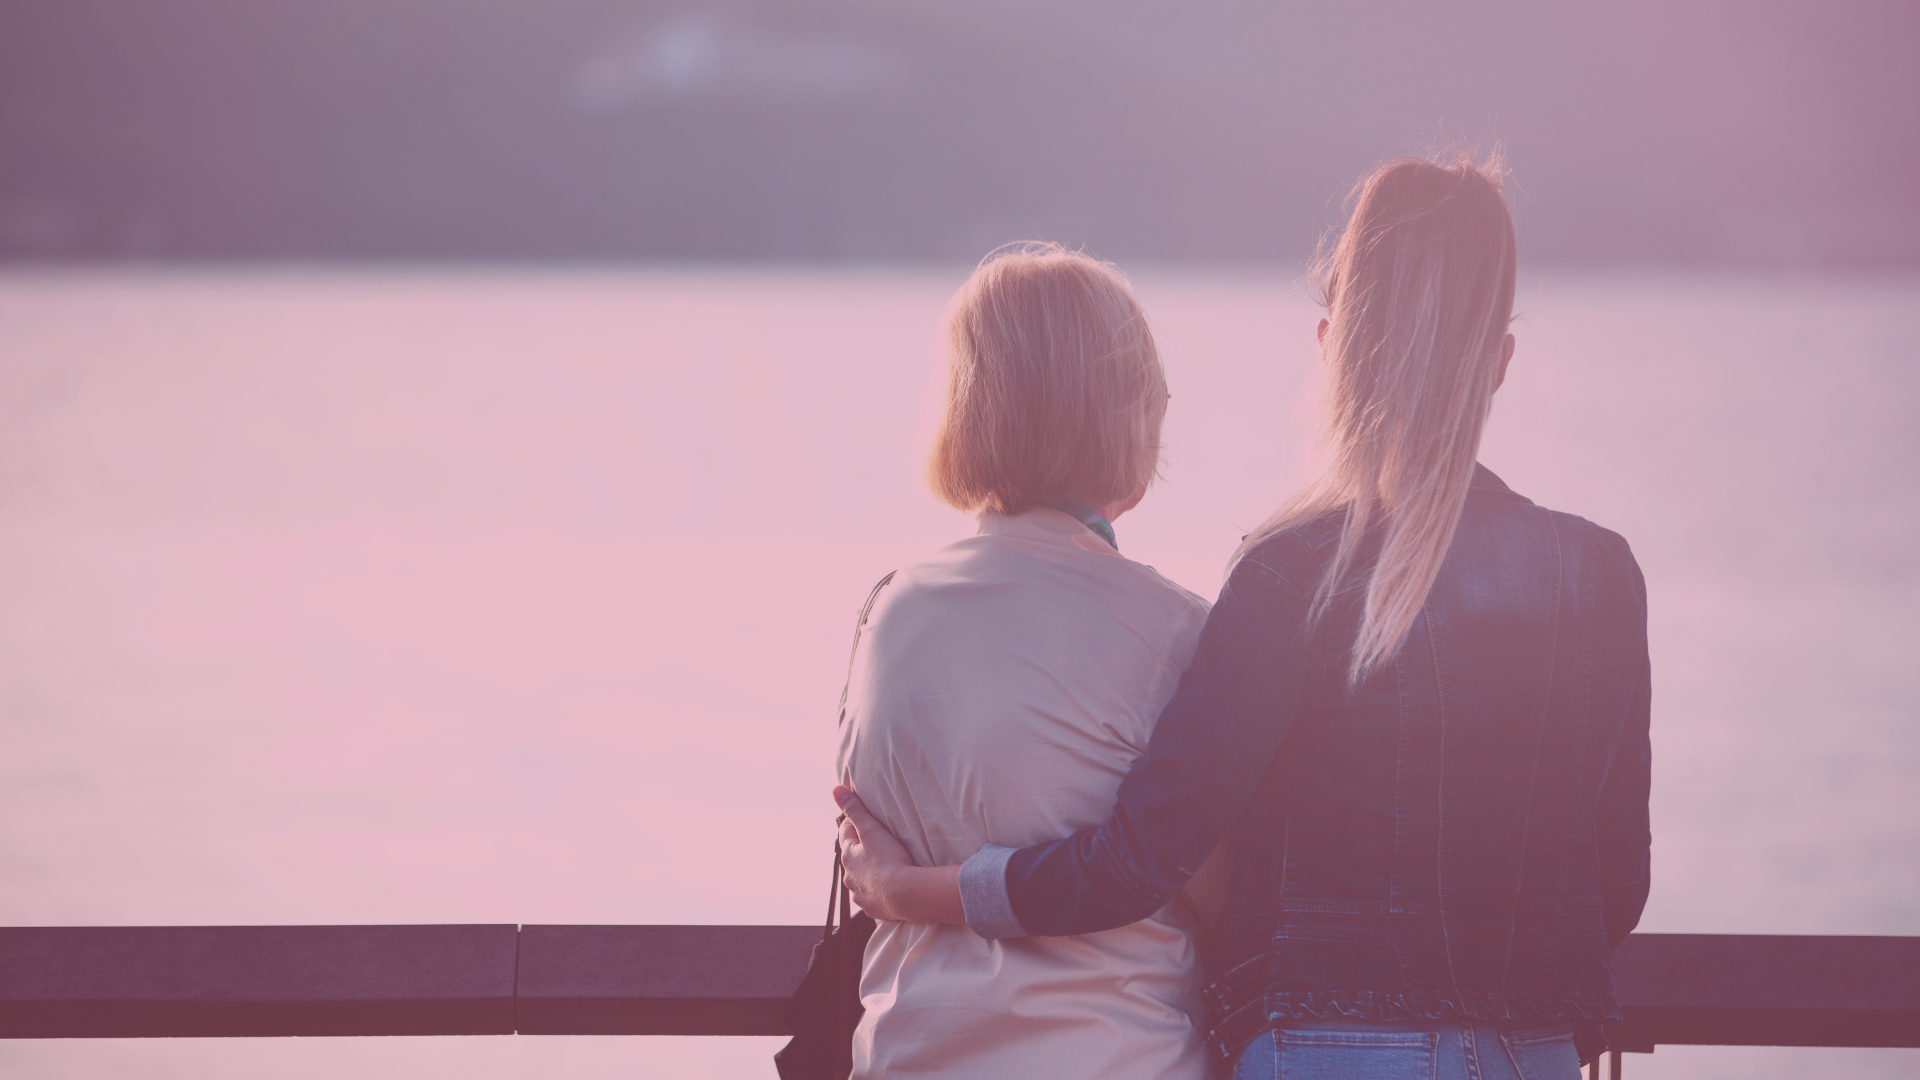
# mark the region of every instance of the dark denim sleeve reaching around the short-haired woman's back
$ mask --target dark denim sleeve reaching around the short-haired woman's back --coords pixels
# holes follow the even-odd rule
[[[1311,667],[1308,601],[1281,559],[1235,567],[1146,755],[1098,828],[1006,859],[1014,922],[1092,934],[1137,922],[1200,869],[1286,738]],[[1275,569],[1281,565],[1281,569]]]

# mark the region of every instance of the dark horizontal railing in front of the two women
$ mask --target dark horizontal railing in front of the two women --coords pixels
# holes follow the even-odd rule
[[[0,928],[0,1038],[781,1036],[818,926]],[[1920,1047],[1920,938],[1634,934],[1622,1049]]]

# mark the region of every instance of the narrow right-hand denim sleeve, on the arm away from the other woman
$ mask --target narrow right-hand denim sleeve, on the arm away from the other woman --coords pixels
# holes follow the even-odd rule
[[[1653,830],[1647,798],[1653,784],[1653,742],[1649,736],[1653,713],[1653,667],[1647,659],[1647,584],[1634,563],[1626,540],[1605,534],[1613,553],[1622,561],[1634,607],[1630,626],[1622,632],[1632,642],[1636,682],[1628,700],[1620,742],[1613,749],[1607,780],[1599,788],[1596,834],[1599,840],[1601,919],[1607,924],[1607,945],[1620,942],[1640,924],[1651,886]]]

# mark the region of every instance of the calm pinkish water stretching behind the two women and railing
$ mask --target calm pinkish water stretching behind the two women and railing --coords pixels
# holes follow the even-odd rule
[[[0,924],[812,922],[954,273],[0,275]],[[1123,550],[1306,469],[1290,273],[1142,273]],[[1482,459],[1632,540],[1645,930],[1920,934],[1920,279],[1544,275]],[[772,1076],[780,1040],[0,1043],[21,1078]],[[1665,1047],[1636,1078],[1910,1076]]]

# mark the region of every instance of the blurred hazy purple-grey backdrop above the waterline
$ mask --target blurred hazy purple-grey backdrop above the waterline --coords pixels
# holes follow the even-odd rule
[[[8,0],[0,256],[1298,259],[1503,140],[1528,256],[1920,261],[1901,0]]]

